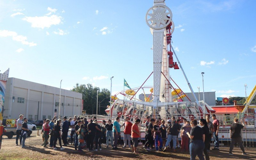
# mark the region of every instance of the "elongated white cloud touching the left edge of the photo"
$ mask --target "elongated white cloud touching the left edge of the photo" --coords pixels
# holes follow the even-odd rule
[[[2,37],[12,37],[12,40],[21,42],[22,44],[29,46],[36,46],[34,42],[28,42],[26,36],[18,35],[16,32],[8,31],[8,30],[0,30],[0,36]]]

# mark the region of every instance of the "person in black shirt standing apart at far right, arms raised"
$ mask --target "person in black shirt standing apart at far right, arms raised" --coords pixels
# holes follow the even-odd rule
[[[241,119],[241,123],[243,124],[242,119]],[[234,123],[230,126],[230,130],[229,130],[230,138],[231,138],[229,155],[233,155],[232,150],[233,150],[236,142],[239,145],[240,149],[243,151],[243,155],[246,155],[246,153],[244,152],[244,145],[243,145],[242,138],[240,135],[241,129],[246,129],[246,127],[244,126],[244,124],[243,125],[239,124],[238,119],[235,118]]]

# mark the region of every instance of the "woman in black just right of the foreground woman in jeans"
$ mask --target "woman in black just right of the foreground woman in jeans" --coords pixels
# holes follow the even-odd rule
[[[199,124],[202,126],[202,129],[204,131],[204,155],[205,155],[205,160],[210,160],[209,154],[207,152],[207,148],[210,145],[210,135],[209,135],[209,128],[208,128],[208,124],[207,121],[203,118],[201,118],[199,120]]]

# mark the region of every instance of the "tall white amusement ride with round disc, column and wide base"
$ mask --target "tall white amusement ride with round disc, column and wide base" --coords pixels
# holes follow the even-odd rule
[[[153,35],[153,74],[154,86],[144,86],[145,82],[137,88],[118,92],[111,96],[111,106],[106,109],[106,113],[110,117],[119,116],[124,118],[129,116],[131,119],[140,118],[146,120],[147,116],[155,119],[170,119],[172,116],[178,117],[181,122],[184,118],[192,120],[203,117],[204,114],[209,114],[213,110],[204,102],[198,102],[193,89],[188,82],[188,79],[183,71],[183,68],[178,60],[175,51],[172,48],[172,33],[174,31],[174,23],[172,21],[172,11],[165,5],[165,0],[154,0],[153,7],[148,9],[146,14],[146,23],[150,27],[150,32]],[[173,61],[175,55],[177,62]],[[184,102],[186,96],[180,87],[172,80],[169,73],[169,68],[181,69],[188,86],[193,93],[195,101]],[[171,84],[172,82],[176,86]],[[150,90],[150,95],[146,97],[144,89]],[[143,90],[145,101],[136,99],[136,93]],[[118,99],[116,96],[121,94],[124,100]],[[150,96],[153,99],[150,100]]]

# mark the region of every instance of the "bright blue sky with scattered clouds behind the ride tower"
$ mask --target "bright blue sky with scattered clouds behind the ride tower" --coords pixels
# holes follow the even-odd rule
[[[166,0],[173,47],[195,92],[247,95],[256,84],[256,1]],[[71,89],[91,83],[112,92],[124,78],[139,87],[153,70],[152,35],[145,22],[153,0],[0,0],[0,70],[10,77]],[[176,59],[174,58],[174,61]],[[189,92],[181,70],[174,81]],[[145,85],[153,85],[153,76]],[[148,91],[149,93],[149,91]]]

